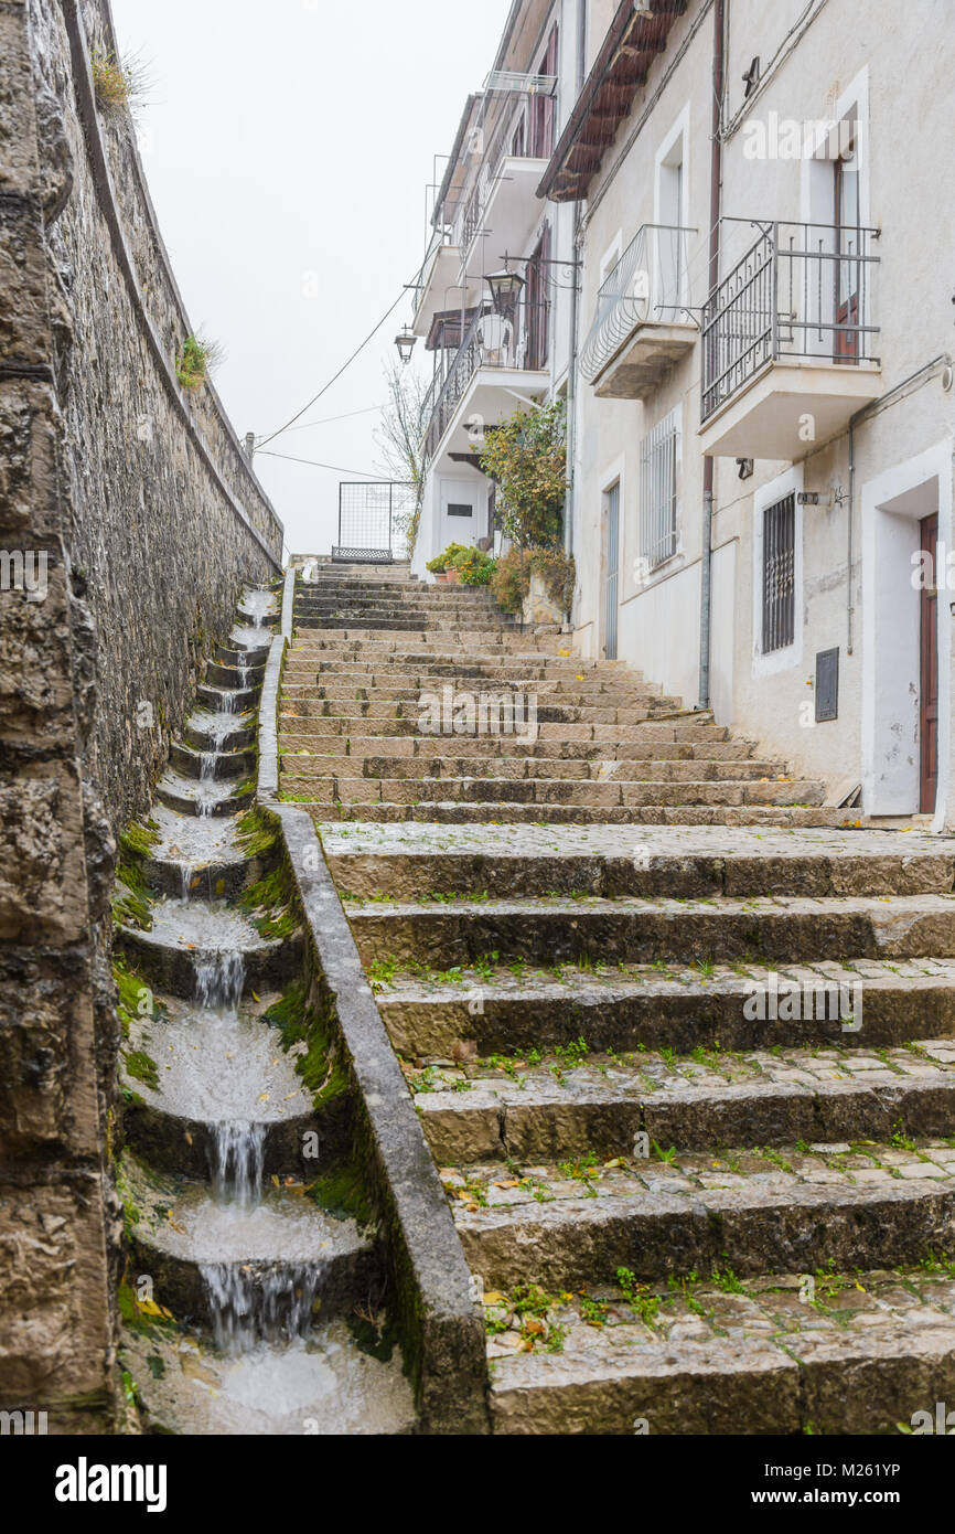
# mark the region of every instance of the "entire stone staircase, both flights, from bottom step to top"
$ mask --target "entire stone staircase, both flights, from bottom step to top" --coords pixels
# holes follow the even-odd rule
[[[494,1430],[911,1431],[955,1402],[955,844],[840,828],[625,667],[408,588],[400,638],[297,626],[282,785],[480,1278]],[[420,735],[475,676],[560,718]]]

